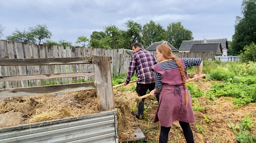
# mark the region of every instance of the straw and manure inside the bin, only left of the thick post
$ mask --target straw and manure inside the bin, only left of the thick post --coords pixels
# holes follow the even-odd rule
[[[8,116],[10,111],[20,113],[21,117],[19,122],[16,121],[15,124],[7,124],[7,126],[99,113],[95,90],[70,92],[64,95],[48,94],[1,99],[1,117]],[[8,122],[10,121],[1,120],[0,128],[5,127]]]

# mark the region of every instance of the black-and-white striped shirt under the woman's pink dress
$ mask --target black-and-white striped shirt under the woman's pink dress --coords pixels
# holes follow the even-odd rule
[[[201,58],[183,58],[182,60],[185,64],[186,68],[188,68],[190,66],[194,66],[194,65],[200,65],[202,62]],[[169,70],[169,69],[178,68],[178,65],[173,60],[161,62],[161,63],[158,63],[157,65],[165,71]],[[160,73],[154,71],[154,77],[155,77],[156,89],[158,91],[161,91],[162,87],[163,87],[163,84],[161,83],[162,75]]]

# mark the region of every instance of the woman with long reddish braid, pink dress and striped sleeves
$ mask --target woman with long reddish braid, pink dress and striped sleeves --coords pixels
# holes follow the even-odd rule
[[[187,143],[194,143],[189,123],[195,123],[191,95],[186,86],[187,71],[197,66],[197,79],[202,74],[201,58],[177,58],[166,44],[156,48],[158,64],[152,67],[155,77],[155,89],[151,96],[160,93],[159,105],[154,123],[160,121],[159,143],[168,142],[168,134],[174,121],[179,121]]]

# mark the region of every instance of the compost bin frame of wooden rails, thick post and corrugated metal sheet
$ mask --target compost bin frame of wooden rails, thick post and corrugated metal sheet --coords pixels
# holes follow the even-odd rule
[[[81,117],[23,126],[4,127],[0,130],[0,143],[118,143],[117,110],[114,109],[111,57],[0,59],[0,66],[50,67],[53,65],[62,66],[72,64],[93,64],[95,72],[1,76],[0,80],[7,82],[19,81],[21,79],[23,81],[30,81],[94,76],[95,81],[64,85],[0,89],[0,98],[96,89],[98,108],[101,112]]]

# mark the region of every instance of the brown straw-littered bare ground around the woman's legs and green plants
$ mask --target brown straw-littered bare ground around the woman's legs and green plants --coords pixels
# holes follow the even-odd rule
[[[204,92],[208,92],[210,87],[216,83],[207,79],[200,79],[199,81],[193,81],[197,85],[197,88]],[[219,82],[218,83],[222,83]],[[232,97],[220,97],[210,100],[206,97],[197,98],[200,106],[205,108],[204,111],[194,111],[196,123],[190,124],[193,132],[195,143],[237,143],[235,138],[237,135],[231,129],[231,125],[235,126],[241,123],[242,119],[249,114],[250,118],[253,118],[256,122],[256,103],[249,103],[246,106],[240,106],[239,108],[232,108],[234,103]],[[143,129],[147,140],[158,143],[160,134],[159,122],[153,124],[154,113],[157,109],[157,103],[150,105],[152,99],[146,99],[146,106],[150,106],[145,114],[144,120],[137,120],[140,128]],[[155,102],[156,99],[153,99]],[[205,121],[205,118],[210,118],[209,122]],[[198,130],[200,129],[200,131]],[[256,125],[252,127],[251,133],[256,133]],[[168,143],[186,143],[182,129],[178,121],[175,121],[171,127],[169,133]]]

